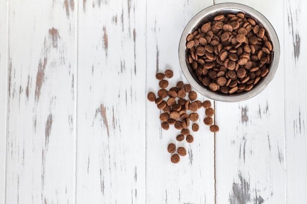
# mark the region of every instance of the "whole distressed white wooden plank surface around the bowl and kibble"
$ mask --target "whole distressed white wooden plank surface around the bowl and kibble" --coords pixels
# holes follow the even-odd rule
[[[306,204],[307,1],[230,0],[275,27],[256,97],[212,101],[178,164],[149,91],[186,23],[226,0],[0,0],[0,204]],[[200,100],[205,97],[199,95]]]

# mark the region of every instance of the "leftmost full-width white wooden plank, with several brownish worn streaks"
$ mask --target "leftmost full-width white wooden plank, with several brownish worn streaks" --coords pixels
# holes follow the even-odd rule
[[[73,0],[9,1],[6,204],[74,204]]]

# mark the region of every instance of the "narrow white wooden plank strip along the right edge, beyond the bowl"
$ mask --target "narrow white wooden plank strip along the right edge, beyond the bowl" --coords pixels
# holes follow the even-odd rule
[[[287,203],[307,203],[307,106],[305,85],[307,2],[285,0],[284,106]]]

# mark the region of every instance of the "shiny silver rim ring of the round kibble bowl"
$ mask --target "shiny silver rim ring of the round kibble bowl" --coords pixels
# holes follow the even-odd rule
[[[189,68],[186,64],[186,37],[191,31],[195,28],[195,26],[200,23],[206,16],[212,15],[222,10],[237,10],[247,13],[248,15],[254,17],[259,23],[263,25],[263,27],[268,31],[268,35],[271,38],[271,42],[273,44],[273,60],[271,63],[270,71],[266,77],[264,77],[260,84],[255,86],[251,91],[247,91],[238,95],[222,95],[215,93],[213,91],[207,91],[204,87],[202,87],[191,75]],[[280,60],[280,44],[278,40],[278,36],[276,34],[275,29],[272,24],[258,11],[254,8],[240,4],[240,3],[219,3],[212,6],[209,6],[198,14],[196,14],[185,26],[181,38],[179,41],[179,64],[181,70],[187,79],[187,81],[191,84],[191,86],[202,95],[211,98],[213,100],[224,101],[224,102],[238,102],[250,99],[256,96],[258,93],[263,91],[266,86],[272,81],[274,75],[277,71],[278,64]]]

